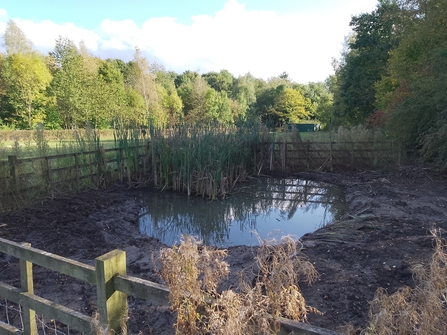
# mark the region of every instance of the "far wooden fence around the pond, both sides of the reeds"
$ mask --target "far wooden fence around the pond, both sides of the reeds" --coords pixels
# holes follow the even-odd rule
[[[405,158],[393,142],[264,142],[258,151],[264,171],[282,172],[394,167]],[[149,145],[25,159],[9,156],[0,161],[0,212],[61,191],[149,176],[153,164]]]

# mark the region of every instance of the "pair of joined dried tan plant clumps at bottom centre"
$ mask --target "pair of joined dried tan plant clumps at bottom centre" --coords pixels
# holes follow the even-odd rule
[[[190,236],[163,249],[160,275],[177,312],[176,334],[275,334],[278,317],[306,321],[308,312],[319,313],[305,304],[298,286],[300,277],[310,283],[317,276],[300,249],[290,236],[262,241],[256,279],[241,280],[238,290],[223,292],[217,287],[229,273],[226,250],[200,246]]]

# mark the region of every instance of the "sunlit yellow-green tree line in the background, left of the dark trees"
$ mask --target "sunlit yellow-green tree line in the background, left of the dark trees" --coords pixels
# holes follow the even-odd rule
[[[177,74],[149,64],[138,48],[132,61],[94,57],[84,43],[59,37],[47,55],[9,21],[0,54],[0,127],[46,129],[179,123],[272,126],[324,120],[332,104],[325,83],[297,84],[287,73],[268,80],[227,70]]]

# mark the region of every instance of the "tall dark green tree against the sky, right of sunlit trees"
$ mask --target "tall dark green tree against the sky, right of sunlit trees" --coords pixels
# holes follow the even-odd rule
[[[386,73],[390,50],[398,44],[399,7],[380,0],[371,13],[352,17],[354,35],[337,69],[334,112],[343,123],[363,123],[376,110],[375,84]]]

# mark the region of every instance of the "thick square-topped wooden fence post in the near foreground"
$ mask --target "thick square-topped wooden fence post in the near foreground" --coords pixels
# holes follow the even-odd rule
[[[127,323],[127,294],[115,291],[113,277],[126,274],[126,253],[110,251],[96,258],[95,268],[100,325],[119,334]]]

